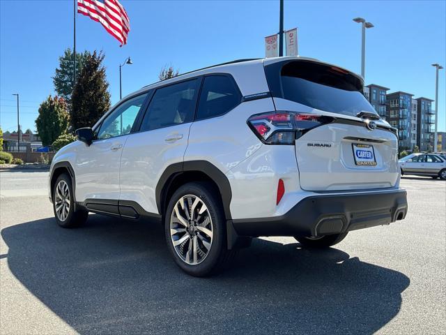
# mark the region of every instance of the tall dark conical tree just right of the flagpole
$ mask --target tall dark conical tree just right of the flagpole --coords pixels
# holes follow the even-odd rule
[[[109,83],[102,61],[105,55],[93,52],[85,58],[84,68],[72,92],[71,121],[74,129],[90,127],[110,109]]]

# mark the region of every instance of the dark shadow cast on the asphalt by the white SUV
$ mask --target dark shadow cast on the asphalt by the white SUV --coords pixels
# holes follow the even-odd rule
[[[73,230],[45,218],[1,235],[10,271],[80,334],[372,334],[410,283],[337,248],[263,239],[222,274],[194,278],[160,225],[98,215]]]

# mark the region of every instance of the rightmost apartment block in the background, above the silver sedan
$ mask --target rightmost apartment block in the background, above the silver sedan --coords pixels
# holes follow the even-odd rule
[[[417,145],[420,151],[433,150],[433,127],[435,111],[432,110],[433,100],[416,98],[417,101]]]

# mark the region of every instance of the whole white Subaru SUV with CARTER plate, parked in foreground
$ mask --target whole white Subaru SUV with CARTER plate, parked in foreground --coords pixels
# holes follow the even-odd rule
[[[402,220],[397,132],[363,85],[339,66],[279,57],[144,87],[54,157],[56,221],[160,221],[176,264],[206,276],[252,237],[323,248]]]

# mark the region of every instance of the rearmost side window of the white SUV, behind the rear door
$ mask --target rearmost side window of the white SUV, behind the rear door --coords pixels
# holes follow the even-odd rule
[[[198,105],[198,119],[216,117],[240,103],[240,93],[233,80],[224,75],[205,77]]]

